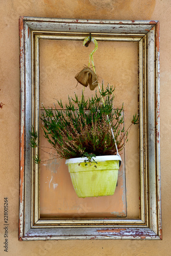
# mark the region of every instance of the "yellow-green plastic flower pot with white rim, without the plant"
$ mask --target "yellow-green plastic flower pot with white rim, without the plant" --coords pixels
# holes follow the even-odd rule
[[[66,160],[71,181],[78,197],[112,196],[115,192],[120,156],[94,157],[97,164],[84,162],[87,158]]]

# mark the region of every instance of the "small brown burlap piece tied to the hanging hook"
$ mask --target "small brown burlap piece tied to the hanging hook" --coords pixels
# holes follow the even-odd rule
[[[83,68],[75,78],[84,87],[90,85],[90,90],[94,90],[98,86],[97,75],[89,67]]]

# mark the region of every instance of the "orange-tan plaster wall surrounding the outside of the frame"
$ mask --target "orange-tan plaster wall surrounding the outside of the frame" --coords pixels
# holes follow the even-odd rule
[[[9,200],[8,255],[170,255],[170,88],[171,2],[169,0],[0,0],[0,109],[1,205]],[[160,120],[162,241],[36,241],[18,242],[19,194],[19,16],[146,19],[160,21]],[[168,146],[168,150],[167,150]],[[4,252],[4,218],[1,207],[0,254]]]

